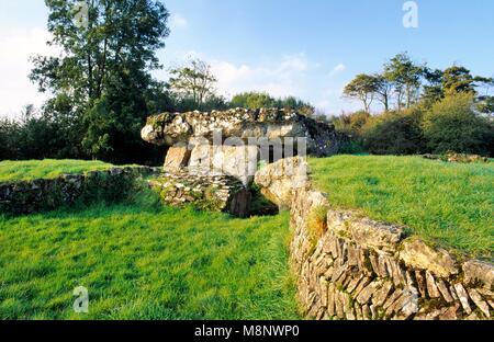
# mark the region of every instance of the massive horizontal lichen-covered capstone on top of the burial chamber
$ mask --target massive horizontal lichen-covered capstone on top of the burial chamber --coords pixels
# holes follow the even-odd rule
[[[278,109],[164,113],[148,118],[142,138],[150,144],[169,146],[189,144],[193,137],[203,137],[212,142],[217,132],[222,133],[223,139],[238,137],[248,145],[256,144],[249,139],[257,138],[305,137],[307,151],[316,156],[336,153],[346,139],[332,125]]]

